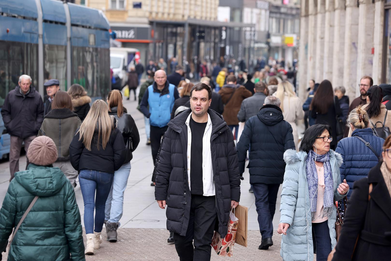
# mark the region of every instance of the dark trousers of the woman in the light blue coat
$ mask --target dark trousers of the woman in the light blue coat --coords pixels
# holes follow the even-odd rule
[[[322,223],[312,223],[312,240],[316,249],[316,261],[327,261],[331,252],[331,238],[328,229],[328,220]]]

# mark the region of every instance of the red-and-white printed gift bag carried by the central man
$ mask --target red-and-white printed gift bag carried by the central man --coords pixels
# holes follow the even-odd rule
[[[233,209],[233,213],[232,213]],[[228,233],[222,238],[220,233],[215,231],[212,238],[211,246],[216,251],[218,256],[233,256],[233,245],[235,244],[236,230],[238,228],[239,219],[235,217],[235,209],[232,208],[230,213],[230,221],[228,223]]]

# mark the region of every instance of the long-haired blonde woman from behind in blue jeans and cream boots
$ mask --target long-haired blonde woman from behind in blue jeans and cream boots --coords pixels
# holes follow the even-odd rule
[[[100,233],[106,200],[114,172],[122,166],[126,157],[122,133],[115,127],[115,118],[109,116],[108,110],[104,101],[95,101],[69,147],[71,164],[79,171],[84,201],[86,254],[94,254],[102,243]]]

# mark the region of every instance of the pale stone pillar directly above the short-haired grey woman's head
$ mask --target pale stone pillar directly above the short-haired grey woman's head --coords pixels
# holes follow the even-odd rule
[[[344,77],[345,44],[345,0],[335,0],[334,48],[333,48],[333,87],[342,86]],[[347,87],[347,86],[344,86]]]

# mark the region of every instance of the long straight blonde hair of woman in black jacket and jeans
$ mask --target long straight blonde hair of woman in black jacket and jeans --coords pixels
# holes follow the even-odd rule
[[[83,144],[91,151],[91,142],[95,132],[98,129],[97,148],[99,150],[100,135],[102,135],[102,147],[106,148],[109,141],[111,129],[113,128],[113,119],[108,114],[108,106],[102,100],[94,101],[88,112],[86,118],[80,126],[78,133],[80,133],[79,140],[83,139]]]

